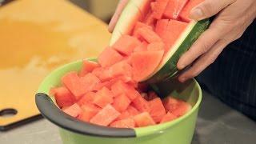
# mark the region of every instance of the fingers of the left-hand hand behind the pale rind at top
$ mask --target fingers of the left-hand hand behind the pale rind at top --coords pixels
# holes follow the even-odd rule
[[[120,17],[120,14],[122,13],[122,10],[125,8],[127,2],[129,2],[129,0],[120,0],[119,1],[118,7],[115,10],[115,13],[114,13],[113,17],[111,18],[110,24],[109,24],[109,27],[108,27],[108,30],[110,31],[110,33],[113,32],[114,26],[118,22],[118,18]]]

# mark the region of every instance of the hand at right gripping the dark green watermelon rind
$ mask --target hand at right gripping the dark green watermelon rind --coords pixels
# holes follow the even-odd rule
[[[200,74],[230,42],[242,36],[256,17],[256,0],[205,0],[191,10],[190,17],[202,20],[215,14],[218,15],[209,29],[179,59],[179,70],[193,62],[190,69],[179,76],[180,82]]]

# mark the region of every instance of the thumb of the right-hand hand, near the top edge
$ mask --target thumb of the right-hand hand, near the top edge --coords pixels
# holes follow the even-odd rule
[[[197,21],[210,18],[235,1],[236,0],[205,0],[190,11],[190,18]]]

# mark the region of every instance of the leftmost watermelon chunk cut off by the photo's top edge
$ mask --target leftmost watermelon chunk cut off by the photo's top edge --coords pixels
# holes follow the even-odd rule
[[[169,0],[156,0],[152,7],[153,16],[156,19],[161,19]]]

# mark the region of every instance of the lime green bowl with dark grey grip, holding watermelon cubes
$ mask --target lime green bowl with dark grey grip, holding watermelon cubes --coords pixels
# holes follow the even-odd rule
[[[52,87],[60,86],[60,79],[69,71],[80,70],[82,61],[72,62],[49,74],[36,94],[36,104],[41,114],[59,126],[64,144],[189,144],[193,138],[202,90],[194,79],[186,83],[177,80],[161,82],[153,86],[162,97],[172,95],[193,106],[184,116],[172,122],[135,129],[118,129],[96,126],[70,117],[58,108],[54,97],[49,95]]]

